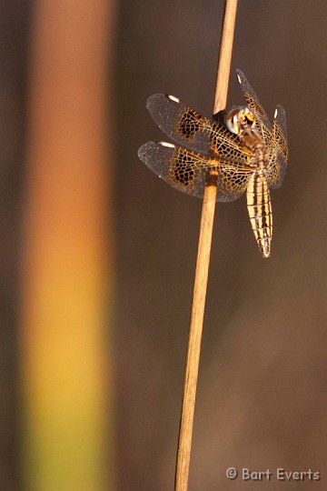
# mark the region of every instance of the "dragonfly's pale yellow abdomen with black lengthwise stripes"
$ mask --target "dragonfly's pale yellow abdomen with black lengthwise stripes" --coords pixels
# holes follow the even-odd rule
[[[269,257],[272,242],[272,202],[263,170],[250,177],[246,190],[253,233],[263,257]]]

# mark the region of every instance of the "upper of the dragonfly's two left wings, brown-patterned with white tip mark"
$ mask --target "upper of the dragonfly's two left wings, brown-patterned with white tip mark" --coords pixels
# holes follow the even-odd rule
[[[178,145],[236,164],[244,164],[252,156],[226,126],[203,117],[173,95],[151,95],[146,107],[160,129]]]

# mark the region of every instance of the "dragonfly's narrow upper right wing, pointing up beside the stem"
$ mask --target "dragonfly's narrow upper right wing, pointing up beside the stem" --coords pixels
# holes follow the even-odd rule
[[[247,78],[243,74],[243,72],[237,69],[236,75],[238,81],[241,84],[246,103],[249,109],[251,109],[251,111],[253,112],[260,135],[262,135],[263,140],[268,143],[270,138],[272,137],[272,124],[269,120],[269,117],[266,115],[263,106],[260,104],[258,96],[253,91],[252,86],[247,81]]]

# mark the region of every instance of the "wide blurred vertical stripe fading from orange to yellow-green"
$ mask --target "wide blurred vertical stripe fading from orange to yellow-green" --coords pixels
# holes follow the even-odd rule
[[[110,0],[35,6],[21,312],[33,491],[114,489],[105,326],[113,15]]]

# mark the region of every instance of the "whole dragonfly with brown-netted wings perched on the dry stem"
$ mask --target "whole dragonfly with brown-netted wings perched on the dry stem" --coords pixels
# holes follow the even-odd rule
[[[202,198],[204,187],[217,186],[217,201],[246,193],[253,233],[263,257],[271,255],[270,188],[282,185],[288,159],[286,116],[277,105],[272,123],[253,87],[236,70],[246,105],[233,106],[216,119],[200,115],[178,97],[151,95],[146,107],[174,144],[147,142],[139,158],[169,185]],[[214,116],[213,116],[214,117]]]

